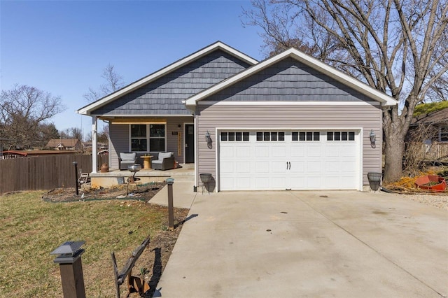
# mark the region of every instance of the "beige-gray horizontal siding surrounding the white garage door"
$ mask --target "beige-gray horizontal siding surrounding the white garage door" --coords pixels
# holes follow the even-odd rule
[[[213,173],[216,178],[216,128],[235,129],[306,129],[306,128],[362,128],[363,184],[367,172],[381,171],[381,108],[372,105],[213,105],[198,106],[197,116],[197,175]],[[377,147],[370,146],[370,129],[377,136]],[[212,149],[207,148],[204,136],[209,131]]]

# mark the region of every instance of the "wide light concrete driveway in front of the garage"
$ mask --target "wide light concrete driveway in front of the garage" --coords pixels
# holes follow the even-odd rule
[[[176,194],[174,194],[176,200]],[[447,297],[448,213],[385,193],[197,194],[155,297]]]

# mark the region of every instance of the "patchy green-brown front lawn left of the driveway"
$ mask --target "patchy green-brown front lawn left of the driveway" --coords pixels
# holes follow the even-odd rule
[[[42,195],[0,196],[0,297],[62,297],[59,267],[50,252],[80,240],[85,241],[87,297],[114,297],[111,252],[120,269],[146,236],[167,225],[167,214],[144,202],[50,203]]]

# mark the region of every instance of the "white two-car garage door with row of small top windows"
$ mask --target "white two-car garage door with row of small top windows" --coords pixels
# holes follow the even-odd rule
[[[219,190],[356,190],[355,130],[218,132]]]

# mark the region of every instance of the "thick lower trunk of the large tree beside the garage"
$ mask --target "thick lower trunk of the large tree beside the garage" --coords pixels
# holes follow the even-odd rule
[[[384,183],[400,180],[402,175],[403,154],[405,152],[405,136],[401,132],[388,129],[385,134],[386,149],[384,151]]]

